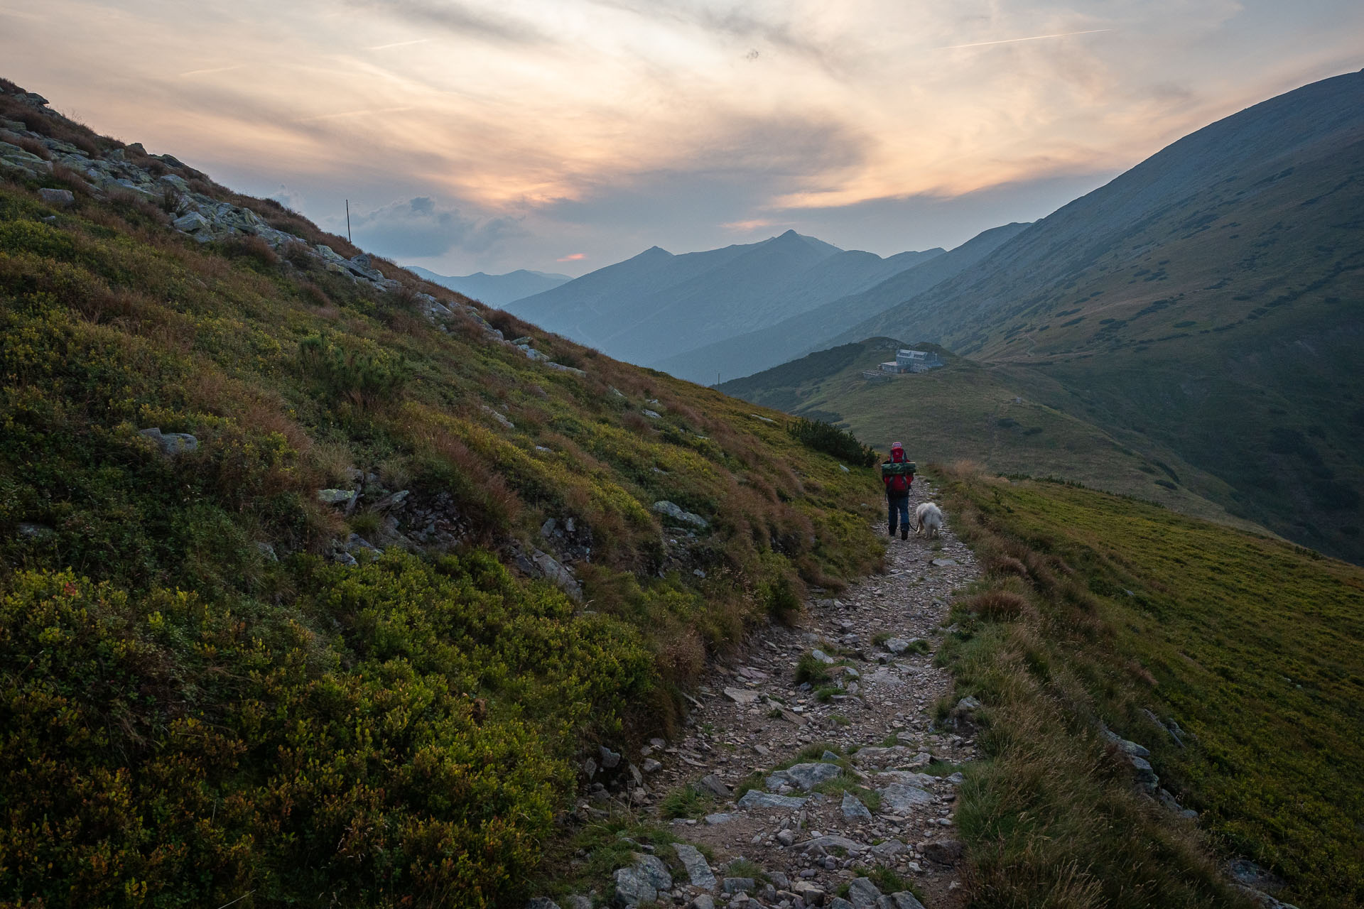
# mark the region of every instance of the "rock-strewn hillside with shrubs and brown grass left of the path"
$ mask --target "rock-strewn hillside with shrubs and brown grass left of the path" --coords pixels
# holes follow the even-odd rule
[[[877,564],[780,414],[0,93],[0,902],[512,905],[582,750]]]

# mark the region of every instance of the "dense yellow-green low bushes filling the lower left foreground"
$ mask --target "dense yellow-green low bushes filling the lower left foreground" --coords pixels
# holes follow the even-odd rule
[[[506,905],[636,632],[488,555],[314,563],[291,611],[71,572],[0,598],[0,901]],[[480,717],[475,698],[495,695]],[[520,706],[510,709],[509,700]]]

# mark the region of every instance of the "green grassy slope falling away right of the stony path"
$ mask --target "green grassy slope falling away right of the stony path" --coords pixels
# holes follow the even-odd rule
[[[974,905],[1214,905],[1204,839],[1286,902],[1364,905],[1364,571],[1088,489],[949,480],[989,572],[943,654],[993,752],[959,814]],[[1198,830],[1136,795],[1099,722]]]

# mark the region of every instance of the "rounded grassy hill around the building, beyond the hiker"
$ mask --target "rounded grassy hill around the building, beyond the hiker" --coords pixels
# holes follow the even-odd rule
[[[903,442],[919,462],[967,459],[997,473],[1057,476],[1185,514],[1237,522],[1204,497],[1230,493],[1219,480],[1140,437],[1118,440],[1041,403],[1011,375],[936,345],[917,346],[937,350],[945,367],[889,382],[862,378],[865,369],[893,358],[904,346],[891,338],[869,338],[716,387],[788,413],[846,424],[881,450]]]

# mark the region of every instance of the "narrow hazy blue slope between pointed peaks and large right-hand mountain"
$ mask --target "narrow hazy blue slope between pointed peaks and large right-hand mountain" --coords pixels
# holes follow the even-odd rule
[[[951,252],[922,260],[866,290],[842,296],[758,331],[698,346],[649,365],[681,379],[705,384],[715,375],[746,376],[818,350],[828,346],[829,339],[847,326],[858,324],[962,273],[1026,226],[1026,224],[1008,224],[992,228]]]

